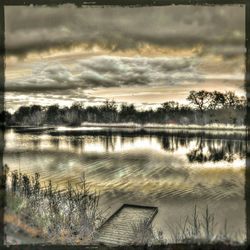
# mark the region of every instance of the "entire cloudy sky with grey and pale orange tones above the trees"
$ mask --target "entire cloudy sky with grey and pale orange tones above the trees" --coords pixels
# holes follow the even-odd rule
[[[6,108],[244,95],[241,6],[5,7]]]

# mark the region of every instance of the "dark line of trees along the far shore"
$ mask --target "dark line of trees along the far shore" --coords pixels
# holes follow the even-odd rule
[[[156,110],[138,110],[133,104],[118,107],[114,101],[105,101],[100,106],[84,107],[75,103],[71,107],[21,106],[13,114],[4,111],[1,121],[7,126],[67,125],[78,126],[83,122],[94,123],[173,123],[210,124],[227,123],[243,125],[246,99],[234,92],[191,91],[188,105],[168,101]]]

